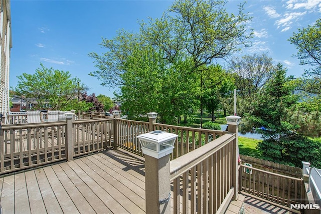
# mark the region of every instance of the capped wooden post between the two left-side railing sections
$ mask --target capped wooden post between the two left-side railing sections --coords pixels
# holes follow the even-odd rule
[[[67,161],[73,160],[75,142],[73,140],[73,125],[72,122],[75,121],[74,113],[67,112],[66,115],[66,158]]]

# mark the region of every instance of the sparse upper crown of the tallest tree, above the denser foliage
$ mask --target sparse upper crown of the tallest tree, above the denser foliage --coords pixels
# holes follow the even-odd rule
[[[244,14],[244,4],[237,15],[225,10],[226,1],[178,0],[159,19],[141,22],[141,33],[153,47],[163,51],[173,63],[182,54],[189,56],[195,69],[226,58],[249,45],[251,30],[245,24],[251,20]],[[173,15],[173,16],[171,16]]]

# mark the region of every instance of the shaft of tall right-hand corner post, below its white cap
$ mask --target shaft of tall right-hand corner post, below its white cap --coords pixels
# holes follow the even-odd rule
[[[228,131],[235,133],[235,140],[233,140],[233,158],[232,158],[232,185],[234,186],[233,198],[238,196],[238,160],[239,160],[239,148],[238,148],[238,132],[239,125],[228,124]]]

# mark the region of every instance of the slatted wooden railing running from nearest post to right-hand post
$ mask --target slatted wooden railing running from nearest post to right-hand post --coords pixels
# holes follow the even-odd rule
[[[224,212],[235,193],[235,139],[227,133],[171,161],[174,213]]]

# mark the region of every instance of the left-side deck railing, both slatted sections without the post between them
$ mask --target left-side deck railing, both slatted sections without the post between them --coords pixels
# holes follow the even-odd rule
[[[3,125],[0,174],[113,147],[114,118],[67,121]]]

